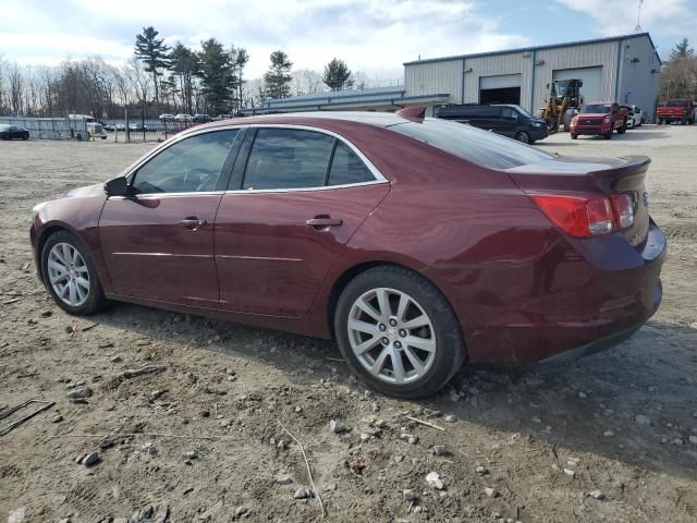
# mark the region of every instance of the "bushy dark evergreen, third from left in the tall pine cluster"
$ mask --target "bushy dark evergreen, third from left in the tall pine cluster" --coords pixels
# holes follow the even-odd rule
[[[228,112],[236,82],[230,53],[215,38],[201,41],[198,66],[197,75],[208,111],[215,114]]]

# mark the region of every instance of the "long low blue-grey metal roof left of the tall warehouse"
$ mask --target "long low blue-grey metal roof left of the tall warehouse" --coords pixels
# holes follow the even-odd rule
[[[351,106],[400,106],[419,101],[444,101],[450,95],[435,93],[431,95],[406,96],[403,85],[391,87],[376,87],[370,89],[346,89],[315,93],[311,95],[292,96],[262,101],[258,107],[245,107],[245,114],[258,114],[265,112],[283,112],[302,109],[331,109],[335,107]]]

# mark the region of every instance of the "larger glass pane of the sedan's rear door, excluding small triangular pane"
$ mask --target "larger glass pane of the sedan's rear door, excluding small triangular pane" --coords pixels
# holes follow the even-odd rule
[[[325,185],[334,138],[295,129],[257,131],[242,188],[302,188]]]

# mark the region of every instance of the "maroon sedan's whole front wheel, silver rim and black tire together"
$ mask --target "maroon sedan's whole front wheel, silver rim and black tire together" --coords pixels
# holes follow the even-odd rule
[[[41,273],[53,301],[66,313],[86,316],[107,304],[89,251],[68,231],[51,234],[44,244]]]

